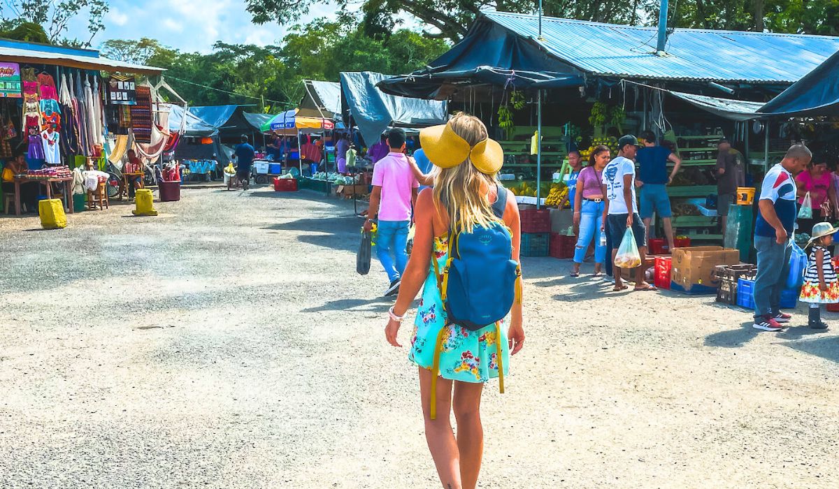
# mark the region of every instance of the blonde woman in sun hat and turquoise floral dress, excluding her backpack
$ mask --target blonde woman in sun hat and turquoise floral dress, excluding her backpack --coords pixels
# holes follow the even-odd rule
[[[487,127],[477,117],[458,114],[446,126],[423,129],[420,143],[436,167],[434,188],[420,192],[415,205],[414,249],[402,275],[399,297],[388,311],[385,336],[391,345],[401,347],[397,334],[402,317],[425,284],[409,352],[409,359],[420,374],[425,439],[442,485],[472,489],[477,485],[483,455],[483,382],[498,377],[499,350],[502,373],[506,373],[508,356],[524,346],[522,303],[519,299],[513,304],[503,327],[492,324],[472,331],[447,325],[431,260],[436,260],[440,269],[445,266],[450,226],[453,231],[472,230],[474,226],[494,226],[501,221],[493,213],[492,204],[498,200],[498,191],[506,191],[502,220],[512,238],[512,259],[518,262],[519,208],[509,190],[498,186],[503,151],[487,137]],[[438,337],[440,373],[432,396],[432,365]],[[436,417],[431,414],[432,398]],[[451,426],[452,408],[456,434]]]

